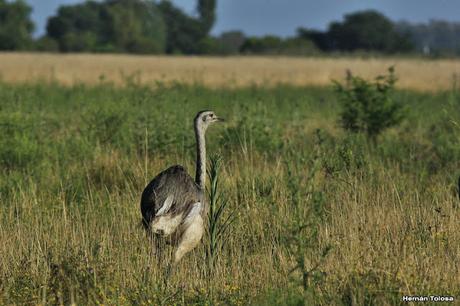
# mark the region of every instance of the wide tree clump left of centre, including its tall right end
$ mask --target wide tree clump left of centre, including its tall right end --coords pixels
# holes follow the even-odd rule
[[[209,53],[221,50],[208,36],[215,9],[216,0],[198,0],[199,16],[192,17],[167,0],[88,0],[61,6],[47,36],[63,52]]]

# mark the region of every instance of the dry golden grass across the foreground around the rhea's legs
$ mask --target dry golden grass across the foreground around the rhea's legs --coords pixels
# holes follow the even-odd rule
[[[104,171],[120,180],[128,163],[138,174],[144,167],[143,160],[132,165],[132,161],[109,154],[99,156],[95,163],[102,163]],[[2,213],[0,268],[3,278],[11,275],[15,284],[5,286],[22,289],[16,293],[17,301],[43,301],[44,305],[50,301],[58,304],[60,299],[82,304],[85,290],[90,292],[90,300],[109,305],[133,301],[143,301],[140,305],[181,304],[181,299],[187,304],[185,301],[190,303],[194,297],[216,304],[225,304],[229,298],[229,304],[241,305],[267,288],[286,287],[294,263],[279,237],[292,222],[293,213],[281,163],[255,155],[228,161],[224,184],[232,206],[238,208],[227,241],[228,252],[216,266],[216,275],[209,279],[204,272],[204,249],[197,248],[165,287],[161,285],[165,263],[151,255],[139,224],[142,175],[132,182],[134,185],[126,182],[130,191],[124,193],[107,190],[106,195],[93,196],[97,186],[88,185],[84,208],[66,200],[69,195],[65,191],[58,198],[37,196],[37,186],[30,181],[29,189],[20,190]],[[187,165],[193,169],[191,161]],[[164,164],[151,162],[148,168],[155,173]],[[308,173],[306,169],[299,171]],[[248,173],[253,176],[247,178]],[[347,179],[348,185],[332,184],[326,194],[330,218],[319,228],[320,245],[334,247],[321,267],[327,275],[321,290],[337,300],[346,299],[348,290],[351,295],[359,294],[359,290],[368,295],[377,292],[382,294],[380,305],[393,304],[388,300],[392,295],[458,292],[460,212],[449,190],[435,184],[431,190],[434,196],[427,196],[430,192],[418,190],[413,177],[381,167],[375,169],[374,183],[357,177]],[[238,188],[234,182],[244,183]],[[273,185],[262,199],[259,188],[265,184]],[[434,211],[434,199],[441,213]],[[54,210],[43,209],[49,203],[54,203]],[[54,267],[59,270],[53,272]],[[25,285],[20,283],[21,277]],[[43,284],[43,289],[37,284]],[[6,304],[1,296],[0,304]]]

